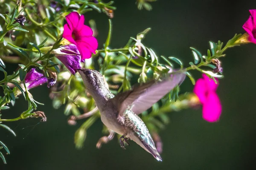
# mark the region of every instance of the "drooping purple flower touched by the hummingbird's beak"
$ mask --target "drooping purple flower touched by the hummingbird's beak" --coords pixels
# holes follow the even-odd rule
[[[52,50],[52,53],[57,57],[72,73],[75,74],[81,68],[81,54],[75,44],[62,46]]]

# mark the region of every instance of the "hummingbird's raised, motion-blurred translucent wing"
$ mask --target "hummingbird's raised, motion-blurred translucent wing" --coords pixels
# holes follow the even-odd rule
[[[119,103],[119,115],[122,115],[128,107],[136,114],[146,111],[175,86],[183,82],[185,77],[184,73],[172,74],[171,77],[165,78],[161,82],[151,81],[118,94],[115,99]]]

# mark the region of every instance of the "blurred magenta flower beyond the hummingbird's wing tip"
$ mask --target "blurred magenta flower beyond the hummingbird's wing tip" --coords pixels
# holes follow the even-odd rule
[[[216,122],[221,116],[221,102],[216,94],[218,85],[203,74],[195,83],[194,93],[203,105],[203,118],[208,122]]]

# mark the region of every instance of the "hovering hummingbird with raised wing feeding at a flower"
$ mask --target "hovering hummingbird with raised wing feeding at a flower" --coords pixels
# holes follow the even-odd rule
[[[162,81],[152,80],[115,96],[105,85],[104,78],[99,71],[80,68],[78,72],[99,108],[103,124],[122,135],[119,139],[121,147],[125,149],[125,143],[129,145],[128,139],[131,139],[151,153],[157,161],[162,161],[148,128],[137,115],[146,111],[183,82],[186,75],[184,73],[172,74]]]

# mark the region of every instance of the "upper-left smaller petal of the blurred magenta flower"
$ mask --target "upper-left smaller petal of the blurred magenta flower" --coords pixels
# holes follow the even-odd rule
[[[200,78],[196,81],[193,91],[198,96],[200,102],[203,104],[206,101],[207,93],[207,85],[203,78]]]

